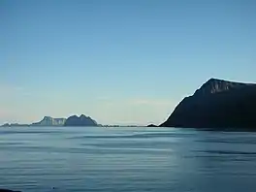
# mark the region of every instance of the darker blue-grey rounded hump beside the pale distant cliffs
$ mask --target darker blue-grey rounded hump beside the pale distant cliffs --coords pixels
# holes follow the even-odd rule
[[[98,123],[91,117],[81,114],[68,117],[64,126],[98,126]]]

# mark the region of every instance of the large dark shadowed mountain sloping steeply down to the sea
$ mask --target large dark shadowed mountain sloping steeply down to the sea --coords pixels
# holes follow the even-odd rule
[[[160,126],[256,129],[256,84],[210,79]]]

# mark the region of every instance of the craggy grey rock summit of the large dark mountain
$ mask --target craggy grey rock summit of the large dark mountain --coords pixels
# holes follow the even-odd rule
[[[246,85],[246,83],[211,78],[207,82],[205,82],[199,89],[197,89],[195,94],[215,94],[233,88],[238,88],[243,85]]]

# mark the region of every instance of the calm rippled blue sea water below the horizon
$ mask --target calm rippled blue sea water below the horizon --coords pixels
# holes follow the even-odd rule
[[[22,192],[255,192],[256,133],[0,128],[0,188]]]

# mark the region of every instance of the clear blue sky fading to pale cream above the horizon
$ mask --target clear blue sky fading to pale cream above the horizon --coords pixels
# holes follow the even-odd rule
[[[255,0],[0,0],[0,123],[159,124],[210,78],[256,82]]]

